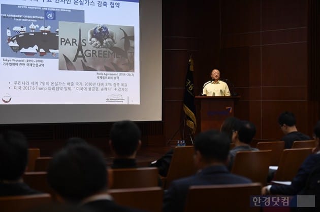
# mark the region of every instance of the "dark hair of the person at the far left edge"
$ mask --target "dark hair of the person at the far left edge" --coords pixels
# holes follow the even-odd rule
[[[28,161],[28,143],[22,133],[0,134],[0,180],[19,180]]]

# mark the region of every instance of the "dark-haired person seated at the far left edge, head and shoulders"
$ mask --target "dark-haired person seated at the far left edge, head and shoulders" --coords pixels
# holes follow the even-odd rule
[[[0,134],[0,196],[38,194],[23,183],[28,161],[28,144],[18,132]]]

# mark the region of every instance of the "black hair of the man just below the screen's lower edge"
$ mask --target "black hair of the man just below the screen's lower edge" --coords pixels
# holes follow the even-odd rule
[[[138,148],[141,131],[139,126],[130,120],[118,121],[112,125],[109,139],[117,155],[130,156]]]

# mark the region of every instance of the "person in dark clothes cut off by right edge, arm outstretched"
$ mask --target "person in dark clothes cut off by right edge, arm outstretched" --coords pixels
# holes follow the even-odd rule
[[[320,138],[320,122],[318,122],[313,129],[314,140],[319,148]],[[316,165],[320,165],[320,151],[309,155],[299,168],[297,175],[292,180],[291,185],[268,185],[262,188],[262,194],[282,194],[282,195],[296,195],[303,190],[309,178],[309,174]]]

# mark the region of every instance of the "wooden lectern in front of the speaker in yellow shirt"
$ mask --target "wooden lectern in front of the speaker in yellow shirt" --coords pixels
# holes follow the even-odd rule
[[[234,116],[235,102],[239,99],[240,96],[196,96],[197,116],[198,120],[200,120],[201,132],[213,129],[219,130],[226,118]]]

